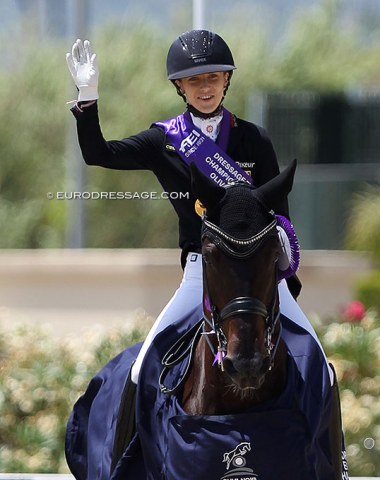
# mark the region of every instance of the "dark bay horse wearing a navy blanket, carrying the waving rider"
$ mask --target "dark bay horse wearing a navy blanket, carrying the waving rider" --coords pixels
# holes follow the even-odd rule
[[[295,168],[254,189],[219,187],[192,167],[206,209],[203,305],[147,352],[131,441],[119,433],[139,346],[93,378],[66,435],[77,480],[348,478],[330,366],[315,338],[279,310],[274,212]]]

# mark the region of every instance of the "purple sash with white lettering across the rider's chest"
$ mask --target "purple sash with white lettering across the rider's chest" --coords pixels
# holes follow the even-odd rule
[[[252,183],[250,175],[226,153],[231,117],[231,113],[223,107],[223,118],[216,142],[193,124],[187,111],[155,125],[165,130],[168,140],[188,165],[194,162],[199,170],[217,185],[224,187],[236,181]]]

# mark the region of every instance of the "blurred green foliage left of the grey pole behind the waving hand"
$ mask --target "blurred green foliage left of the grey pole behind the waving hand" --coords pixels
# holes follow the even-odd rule
[[[60,246],[64,206],[46,202],[62,189],[66,122],[60,61],[43,44],[23,49],[2,39],[17,62],[0,70],[0,246]]]

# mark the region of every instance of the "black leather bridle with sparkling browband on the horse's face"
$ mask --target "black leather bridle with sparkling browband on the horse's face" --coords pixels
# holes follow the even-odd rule
[[[248,239],[237,239],[220,227],[213,224],[206,217],[203,218],[202,241],[208,238],[219,249],[221,249],[227,256],[238,259],[246,259],[252,256],[257,249],[270,237],[277,237],[276,219],[274,218],[266,227],[259,233]],[[214,355],[214,364],[217,363],[221,370],[224,370],[223,359],[227,355],[227,337],[223,331],[222,324],[230,317],[247,314],[259,315],[265,322],[265,348],[269,357],[269,365],[267,371],[272,370],[274,358],[281,340],[281,322],[279,322],[280,311],[277,308],[277,271],[274,275],[273,295],[269,307],[259,299],[253,297],[236,297],[230,300],[219,311],[213,304],[209,294],[208,280],[207,280],[207,266],[203,261],[203,275],[204,275],[204,300],[203,300],[203,326],[202,335],[205,337],[212,354]],[[277,269],[276,269],[277,270]],[[276,310],[277,308],[277,310]],[[277,340],[272,342],[272,336],[279,323],[279,332]],[[207,327],[209,329],[207,329]],[[216,335],[217,349],[210,340],[210,335]],[[267,373],[267,372],[264,372]]]

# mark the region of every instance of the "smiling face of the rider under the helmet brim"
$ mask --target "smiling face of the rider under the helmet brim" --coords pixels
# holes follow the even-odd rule
[[[223,98],[228,72],[212,72],[176,80],[187,103],[202,113],[212,113]]]

